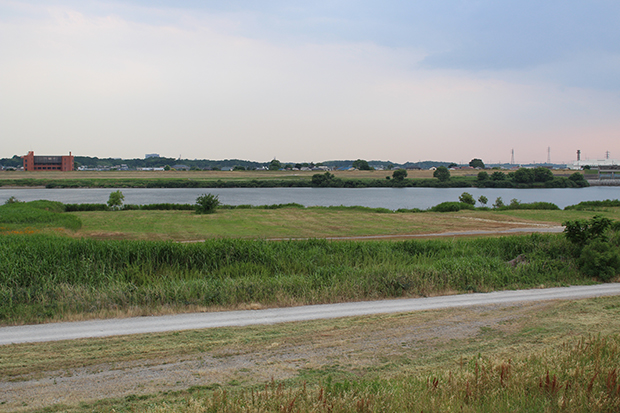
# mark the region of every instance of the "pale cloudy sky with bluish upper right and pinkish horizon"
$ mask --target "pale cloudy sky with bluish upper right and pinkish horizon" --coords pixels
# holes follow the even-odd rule
[[[618,22],[617,0],[0,0],[0,157],[620,159]]]

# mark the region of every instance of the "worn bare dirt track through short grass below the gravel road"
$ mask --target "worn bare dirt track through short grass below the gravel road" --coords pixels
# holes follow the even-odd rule
[[[493,305],[318,322],[316,331],[274,340],[166,358],[145,354],[129,362],[16,377],[0,383],[0,403],[4,411],[23,411],[197,385],[259,384],[334,369],[357,376],[376,371],[389,375],[402,372],[402,360],[407,369],[429,369],[437,351],[458,358],[462,343],[489,330],[508,334],[511,326],[548,305]],[[263,328],[269,332],[277,326]]]

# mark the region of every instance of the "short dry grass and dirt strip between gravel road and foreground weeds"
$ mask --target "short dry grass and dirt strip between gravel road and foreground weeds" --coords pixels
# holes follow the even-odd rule
[[[576,336],[614,334],[619,316],[620,297],[607,297],[4,346],[0,402],[7,411],[58,402],[74,405],[62,411],[142,411],[191,386],[435,375],[479,354],[517,359],[553,353]],[[153,396],[78,407],[145,394]]]

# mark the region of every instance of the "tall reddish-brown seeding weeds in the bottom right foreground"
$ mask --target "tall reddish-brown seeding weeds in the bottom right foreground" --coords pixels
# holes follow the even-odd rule
[[[479,356],[427,377],[216,390],[149,412],[618,412],[620,337],[577,338],[543,354]]]

